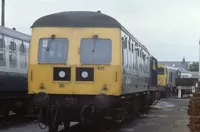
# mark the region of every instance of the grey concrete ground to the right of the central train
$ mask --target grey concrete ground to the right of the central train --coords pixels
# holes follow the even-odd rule
[[[163,99],[147,115],[122,127],[118,132],[189,132],[189,99]]]

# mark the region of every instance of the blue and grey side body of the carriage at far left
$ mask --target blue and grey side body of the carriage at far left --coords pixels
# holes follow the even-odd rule
[[[28,35],[0,27],[1,93],[28,91],[28,39]]]

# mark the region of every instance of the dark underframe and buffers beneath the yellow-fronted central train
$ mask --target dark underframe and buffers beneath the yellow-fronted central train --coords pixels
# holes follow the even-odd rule
[[[146,113],[158,99],[158,91],[141,92],[122,96],[93,95],[47,95],[36,94],[34,103],[40,107],[40,122],[57,132],[70,122],[79,122],[82,128],[101,130],[115,124],[123,124]],[[91,127],[92,126],[92,127]]]

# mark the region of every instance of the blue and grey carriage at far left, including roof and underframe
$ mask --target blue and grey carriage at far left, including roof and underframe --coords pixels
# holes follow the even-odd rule
[[[28,52],[30,36],[0,26],[0,114],[24,114],[28,97]]]

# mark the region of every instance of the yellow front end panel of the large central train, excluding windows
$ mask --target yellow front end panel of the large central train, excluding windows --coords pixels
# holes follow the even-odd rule
[[[38,62],[39,40],[41,38],[68,39],[68,54],[65,64]],[[83,38],[110,39],[112,57],[109,64],[81,64],[80,45]],[[104,54],[104,53],[102,53]],[[70,68],[70,80],[54,80],[54,68]],[[93,81],[77,81],[77,68],[92,68]],[[33,28],[30,43],[28,85],[29,94],[45,92],[47,94],[70,95],[120,95],[122,85],[121,37],[119,28]]]

